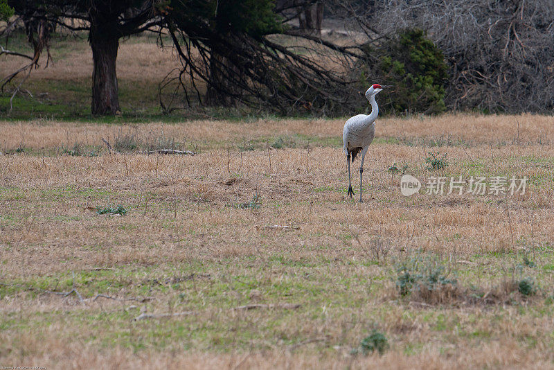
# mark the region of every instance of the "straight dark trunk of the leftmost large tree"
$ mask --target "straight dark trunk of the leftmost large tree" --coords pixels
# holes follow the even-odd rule
[[[91,25],[89,36],[92,49],[92,114],[119,113],[116,59],[119,39],[107,32],[98,32]]]

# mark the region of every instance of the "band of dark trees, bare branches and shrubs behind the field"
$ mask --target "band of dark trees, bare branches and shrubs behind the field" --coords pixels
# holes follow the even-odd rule
[[[216,106],[346,115],[367,109],[358,93],[374,82],[393,85],[380,96],[383,112],[393,114],[554,109],[554,0],[116,5],[2,0],[9,20],[0,35],[7,43],[24,27],[35,51],[26,68],[2,80],[3,94],[21,94],[18,78],[37,67],[43,49],[49,56],[51,33],[86,32],[95,65],[91,112],[117,114],[118,42],[151,31],[160,41],[169,37],[181,60],[160,82],[166,114]]]

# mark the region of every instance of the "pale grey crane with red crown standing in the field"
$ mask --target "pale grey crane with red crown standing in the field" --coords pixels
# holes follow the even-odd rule
[[[350,158],[352,163],[361,151],[361,164],[359,165],[359,201],[361,202],[361,174],[364,173],[364,159],[368,152],[369,144],[375,136],[375,120],[379,114],[379,107],[375,101],[375,95],[382,91],[383,87],[379,84],[373,84],[366,91],[366,98],[371,104],[371,114],[358,114],[348,118],[344,124],[342,132],[343,152],[346,155],[346,165],[348,166],[348,195],[352,198],[352,183],[350,182]]]

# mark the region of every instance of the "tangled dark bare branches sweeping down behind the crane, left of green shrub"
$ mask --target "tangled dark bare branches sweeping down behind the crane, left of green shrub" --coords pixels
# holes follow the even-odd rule
[[[196,90],[195,80],[202,80],[208,103],[217,96],[214,94],[220,94],[231,100],[215,103],[233,101],[282,114],[317,108],[320,114],[329,114],[332,107],[355,98],[355,94],[339,91],[353,88],[350,85],[355,81],[346,71],[358,58],[358,45],[339,46],[293,29],[284,30],[277,41],[272,35],[255,38],[247,33],[217,32],[202,21],[190,24],[169,19],[167,28],[183,65],[179,78],[186,71]],[[285,43],[296,40],[292,42],[296,46],[285,46],[282,37],[288,37]],[[190,105],[185,86],[180,87]],[[202,103],[202,98],[199,100]]]

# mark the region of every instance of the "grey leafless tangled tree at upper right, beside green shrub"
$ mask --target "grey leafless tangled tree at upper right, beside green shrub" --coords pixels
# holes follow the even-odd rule
[[[427,30],[450,66],[452,109],[554,109],[554,0],[385,0],[361,22]]]

